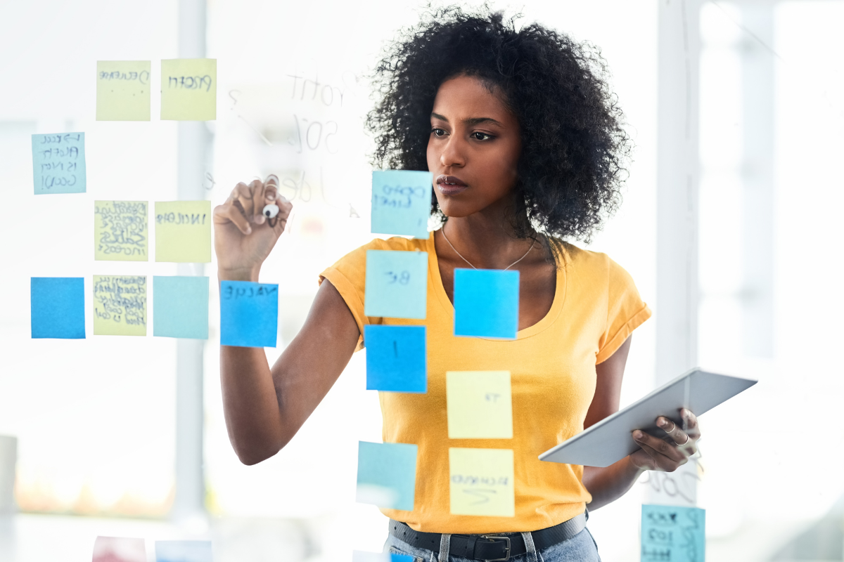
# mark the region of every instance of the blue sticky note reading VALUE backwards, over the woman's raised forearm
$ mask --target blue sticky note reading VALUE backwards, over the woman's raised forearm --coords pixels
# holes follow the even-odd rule
[[[252,281],[220,282],[220,345],[275,347],[278,333],[278,285]]]

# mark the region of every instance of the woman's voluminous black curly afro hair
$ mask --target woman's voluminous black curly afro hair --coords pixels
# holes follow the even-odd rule
[[[430,112],[441,83],[458,75],[498,88],[521,127],[516,208],[519,238],[588,242],[619,205],[630,138],[598,49],[539,24],[516,29],[502,13],[430,10],[387,46],[373,75],[367,129],[373,164],[427,170]],[[445,221],[431,199],[432,214]]]

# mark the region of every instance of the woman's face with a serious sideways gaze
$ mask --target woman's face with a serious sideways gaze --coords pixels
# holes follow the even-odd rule
[[[497,91],[469,76],[446,80],[430,128],[428,169],[446,217],[467,217],[511,193],[522,139]]]

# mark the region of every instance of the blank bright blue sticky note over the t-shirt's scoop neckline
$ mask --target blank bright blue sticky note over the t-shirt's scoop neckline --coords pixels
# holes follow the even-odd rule
[[[454,270],[454,335],[515,340],[517,270]]]

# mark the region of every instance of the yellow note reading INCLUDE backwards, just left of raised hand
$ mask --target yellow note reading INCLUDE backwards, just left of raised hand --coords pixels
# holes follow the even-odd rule
[[[155,261],[211,261],[211,201],[155,202]]]

